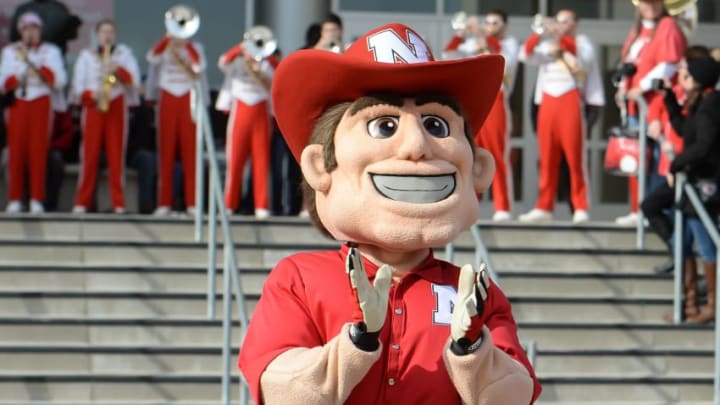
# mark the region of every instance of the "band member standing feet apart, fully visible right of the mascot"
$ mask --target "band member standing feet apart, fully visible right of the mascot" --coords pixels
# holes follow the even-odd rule
[[[538,64],[535,103],[538,104],[538,144],[540,152],[539,195],[535,208],[519,217],[522,222],[552,220],[557,191],[560,157],[570,169],[573,222],[589,220],[588,187],[585,167],[585,123],[583,102],[601,106],[605,97],[595,49],[585,35],[577,34],[577,15],[558,11],[555,21],[545,23],[525,42],[520,60]]]

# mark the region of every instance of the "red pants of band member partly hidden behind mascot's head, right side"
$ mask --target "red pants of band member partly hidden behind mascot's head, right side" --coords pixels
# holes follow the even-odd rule
[[[495,211],[510,211],[509,188],[510,166],[507,161],[507,113],[505,94],[500,91],[482,128],[475,135],[475,143],[485,148],[495,159],[495,177],[492,183],[492,197]]]

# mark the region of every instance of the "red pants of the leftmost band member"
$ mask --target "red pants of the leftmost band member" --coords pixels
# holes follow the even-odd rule
[[[22,200],[26,170],[30,198],[45,200],[45,171],[52,127],[50,96],[16,99],[6,109],[8,146],[8,201]]]

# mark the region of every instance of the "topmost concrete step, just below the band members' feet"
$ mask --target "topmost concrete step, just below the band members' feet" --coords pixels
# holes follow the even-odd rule
[[[634,228],[604,223],[574,226],[496,224],[481,221],[479,226],[483,240],[490,247],[628,249],[635,247],[636,238]],[[109,229],[112,229],[112,232],[108,232]],[[206,232],[207,227],[204,229]],[[238,243],[331,242],[305,218],[275,217],[257,220],[252,217],[233,216],[231,229],[233,240]],[[219,226],[217,232],[222,239]],[[189,216],[158,218],[146,215],[0,214],[0,240],[18,238],[46,241],[194,242],[194,222]],[[465,247],[475,244],[470,231],[463,232],[454,243]],[[662,249],[663,244],[648,232],[646,247]]]

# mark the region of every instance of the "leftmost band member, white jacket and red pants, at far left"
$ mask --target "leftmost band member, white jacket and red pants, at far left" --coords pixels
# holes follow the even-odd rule
[[[67,82],[60,50],[41,41],[43,22],[27,12],[18,18],[21,39],[2,50],[0,85],[14,96],[7,108],[7,212],[22,211],[26,170],[30,177],[30,212],[44,212],[45,176],[53,109],[63,109]]]

